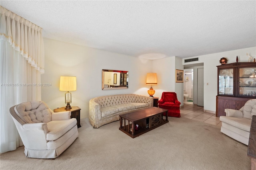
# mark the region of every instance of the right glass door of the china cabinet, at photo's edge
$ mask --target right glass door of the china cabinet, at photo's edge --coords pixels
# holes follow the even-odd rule
[[[239,68],[239,96],[256,96],[256,67]]]

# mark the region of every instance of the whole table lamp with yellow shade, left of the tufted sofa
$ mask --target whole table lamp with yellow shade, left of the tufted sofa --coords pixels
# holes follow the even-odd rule
[[[71,93],[70,91],[76,91],[76,77],[74,76],[60,76],[60,91],[68,91],[65,93],[65,109],[72,109],[70,106]]]

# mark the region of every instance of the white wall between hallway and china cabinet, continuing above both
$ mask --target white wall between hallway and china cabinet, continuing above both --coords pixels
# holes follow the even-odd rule
[[[249,57],[246,53],[256,58],[256,47],[195,56],[199,57],[199,61],[187,63],[204,63],[204,110],[216,111],[216,96],[218,92],[218,74],[216,66],[220,65],[220,59],[226,57],[228,59],[227,64],[236,63],[236,56],[238,56],[238,62],[248,62]],[[208,85],[206,85],[207,83]]]

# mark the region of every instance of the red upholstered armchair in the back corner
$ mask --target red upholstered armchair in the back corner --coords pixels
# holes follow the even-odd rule
[[[163,92],[161,99],[158,101],[158,107],[168,109],[168,116],[180,117],[180,102],[175,92]]]

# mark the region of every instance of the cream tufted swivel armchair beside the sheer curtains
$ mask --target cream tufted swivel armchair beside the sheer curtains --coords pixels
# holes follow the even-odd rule
[[[71,112],[53,112],[42,101],[12,106],[12,119],[28,158],[56,158],[78,137],[76,119]]]

